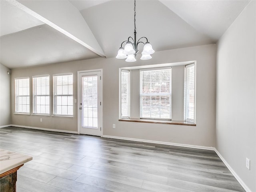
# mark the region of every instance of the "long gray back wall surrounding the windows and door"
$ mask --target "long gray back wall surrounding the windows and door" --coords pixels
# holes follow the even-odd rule
[[[116,58],[97,58],[91,60],[52,64],[48,66],[15,69],[12,70],[12,101],[14,101],[14,78],[29,76],[30,83],[32,83],[32,76],[35,75],[50,74],[50,76],[52,76],[52,74],[72,72],[74,74],[74,99],[77,99],[77,71],[102,68],[103,134],[105,136],[214,147],[216,127],[216,46],[212,44],[180,48],[156,52],[152,56],[153,58],[151,60],[146,61],[140,60],[140,57],[138,56],[137,62],[134,63],[128,63],[124,60],[118,60]],[[197,62],[196,126],[118,121],[119,68],[194,60]],[[12,102],[12,124],[76,132],[77,104],[74,103],[74,106],[73,119],[54,118],[13,114],[14,102]],[[43,122],[40,122],[40,118],[43,119]],[[112,128],[112,124],[116,124],[115,129]]]

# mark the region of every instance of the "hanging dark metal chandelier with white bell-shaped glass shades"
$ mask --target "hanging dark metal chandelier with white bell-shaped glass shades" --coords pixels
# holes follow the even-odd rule
[[[139,43],[143,43],[144,44],[144,48],[142,51],[142,57],[140,58],[141,60],[148,60],[151,59],[152,56],[151,54],[153,54],[155,51],[152,48],[152,45],[150,44],[150,42],[148,42],[148,39],[146,37],[141,37],[139,38],[138,41],[136,41],[136,0],[134,0],[134,39],[132,37],[128,37],[127,41],[122,42],[121,47],[118,50],[117,59],[125,59],[126,58],[126,62],[135,62],[136,61],[136,55],[138,53],[138,44]],[[140,41],[141,39],[145,39],[146,43]],[[125,46],[123,48],[123,43],[125,43]]]

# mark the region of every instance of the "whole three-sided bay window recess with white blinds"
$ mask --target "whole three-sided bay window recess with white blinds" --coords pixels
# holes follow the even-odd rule
[[[196,126],[196,61],[119,69],[119,121]]]

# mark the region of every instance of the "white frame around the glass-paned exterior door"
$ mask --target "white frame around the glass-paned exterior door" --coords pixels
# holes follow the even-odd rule
[[[100,134],[101,134],[101,136],[100,137],[102,137],[102,133],[103,133],[103,126],[102,126],[102,120],[103,120],[103,110],[102,110],[102,108],[103,108],[103,103],[102,103],[102,98],[103,98],[103,88],[102,88],[102,69],[93,69],[93,70],[82,70],[82,71],[78,71],[77,72],[77,100],[78,100],[78,102],[77,102],[77,116],[78,116],[78,118],[77,118],[77,133],[78,134],[80,134],[80,123],[81,123],[81,121],[80,121],[80,79],[79,79],[79,77],[80,77],[80,73],[84,73],[84,72],[100,72],[100,83],[98,83],[98,86],[99,86],[99,88],[100,88],[100,93],[98,93],[98,98],[99,98],[99,100],[100,100],[100,102],[101,102],[101,107],[100,108],[98,108],[98,116],[99,116],[99,119],[100,119],[100,121],[99,121],[99,124],[98,124],[98,126],[100,127]]]

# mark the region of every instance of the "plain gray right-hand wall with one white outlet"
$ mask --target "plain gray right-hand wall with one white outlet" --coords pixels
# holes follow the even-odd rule
[[[252,192],[256,191],[255,13],[256,1],[251,1],[218,42],[216,97],[216,149]]]

